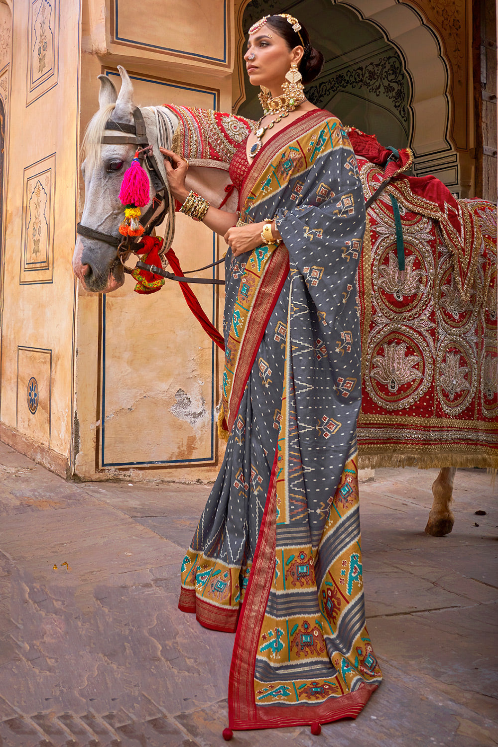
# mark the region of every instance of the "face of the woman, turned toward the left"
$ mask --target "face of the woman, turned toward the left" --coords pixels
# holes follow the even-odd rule
[[[249,36],[244,55],[251,85],[269,88],[275,96],[284,83],[290,63],[299,63],[303,51],[301,46],[289,49],[284,38],[278,36],[273,28],[262,26]]]

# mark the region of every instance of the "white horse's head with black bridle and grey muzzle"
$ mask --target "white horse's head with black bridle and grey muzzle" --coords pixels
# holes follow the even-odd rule
[[[119,201],[119,189],[123,174],[131,165],[137,143],[140,147],[140,137],[137,137],[137,128],[133,126],[134,113],[136,117],[137,112],[140,115],[140,110],[133,103],[133,87],[128,73],[122,66],[118,66],[118,69],[122,80],[119,95],[111,79],[107,75],[99,75],[99,111],[90,120],[83,141],[84,161],[81,170],[85,199],[72,268],[81,285],[94,293],[115,291],[125,282],[118,255],[118,245],[122,240],[118,227],[124,210]],[[150,111],[143,111],[145,124],[150,120],[149,131],[155,131],[153,117]],[[116,123],[116,128],[113,123]],[[146,137],[141,142],[146,143]],[[161,164],[155,165],[162,173],[162,158],[160,161]],[[165,179],[165,172],[163,176]],[[152,189],[152,197],[154,192]],[[167,200],[167,195],[163,196]],[[144,213],[151,202],[143,208]],[[149,214],[153,212],[151,208]]]

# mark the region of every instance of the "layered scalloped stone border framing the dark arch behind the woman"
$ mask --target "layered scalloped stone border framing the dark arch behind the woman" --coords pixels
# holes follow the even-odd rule
[[[237,58],[234,70],[234,107],[243,102],[243,13],[251,0],[240,0],[237,13]],[[396,48],[411,78],[410,108],[414,117],[414,169],[417,176],[434,173],[456,193],[467,193],[461,184],[459,154],[452,138],[454,105],[451,95],[452,68],[443,52],[438,31],[420,10],[400,0],[330,0],[353,10],[376,25]],[[238,89],[238,90],[237,90]],[[236,98],[237,97],[237,98]],[[465,180],[467,181],[467,180]],[[463,196],[463,194],[461,195]]]

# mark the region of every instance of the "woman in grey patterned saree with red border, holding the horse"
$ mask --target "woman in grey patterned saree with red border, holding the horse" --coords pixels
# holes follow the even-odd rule
[[[184,558],[179,607],[205,627],[237,630],[231,728],[318,732],[357,716],[382,678],[364,627],[355,464],[364,196],[342,125],[302,93],[323,63],[305,28],[266,16],[244,59],[264,116],[231,161],[240,215],[189,193],[188,164],[163,150],[181,211],[229,247],[220,416],[229,436]]]

